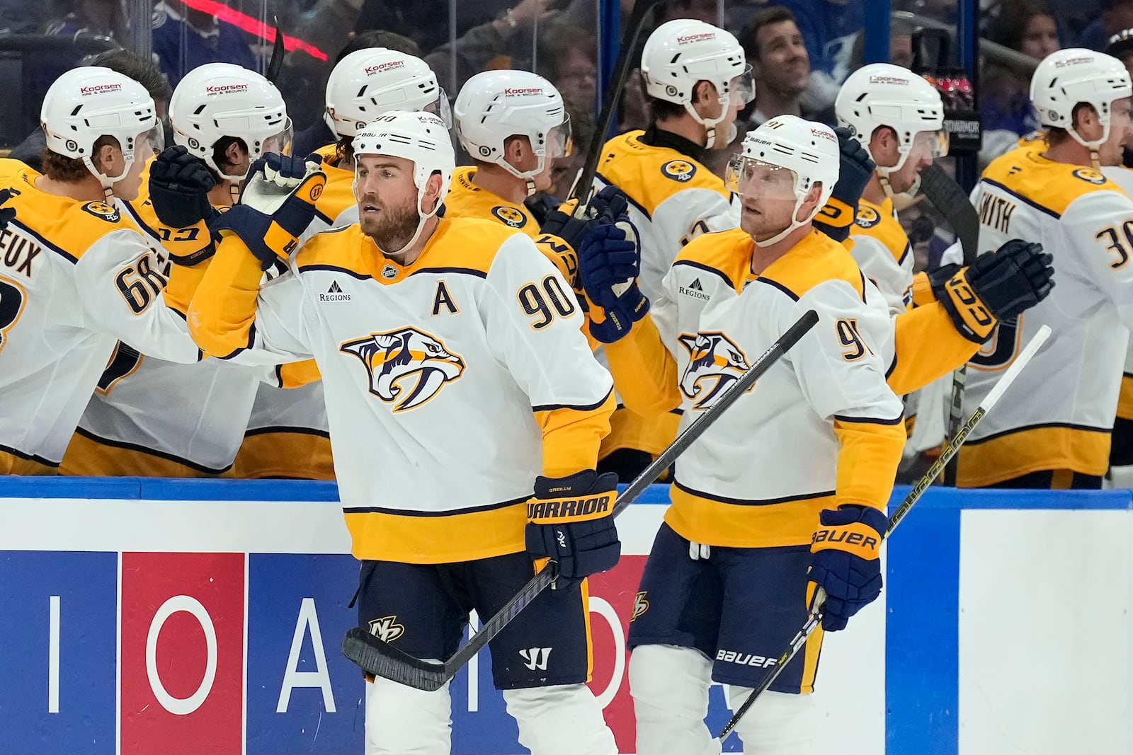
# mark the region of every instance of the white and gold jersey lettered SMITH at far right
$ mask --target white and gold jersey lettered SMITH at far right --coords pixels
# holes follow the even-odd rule
[[[971,412],[1039,327],[1051,337],[960,452],[959,484],[980,487],[1030,472],[1105,474],[1122,368],[1133,324],[1133,199],[1101,173],[1015,149],[995,160],[972,192],[980,249],[1008,239],[1042,243],[1058,283],[1002,323],[971,360]]]

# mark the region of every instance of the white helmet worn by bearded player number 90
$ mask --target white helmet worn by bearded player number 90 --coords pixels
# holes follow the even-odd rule
[[[387,155],[402,157],[414,163],[414,185],[417,187],[417,213],[420,222],[417,232],[401,249],[383,249],[387,255],[395,255],[409,249],[417,242],[425,222],[441,209],[444,197],[452,183],[452,173],[457,170],[457,157],[452,151],[452,140],[444,121],[420,111],[408,112],[394,110],[383,113],[365,126],[353,137],[355,151],[355,198],[358,197],[359,171],[365,170],[358,157],[364,155]],[[426,211],[421,206],[425,199],[425,188],[429,177],[441,174],[441,191],[436,206]]]

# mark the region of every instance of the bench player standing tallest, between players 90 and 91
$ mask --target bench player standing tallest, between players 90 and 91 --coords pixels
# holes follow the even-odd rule
[[[606,143],[596,188],[614,185],[630,198],[629,218],[641,246],[638,282],[651,299],[684,244],[739,225],[730,192],[704,161],[706,151],[732,141],[736,114],[755,97],[755,85],[739,41],[691,19],[667,22],[649,35],[641,76],[653,125]],[[632,309],[637,302],[625,303],[628,311],[616,319],[632,323],[644,315]],[[632,477],[668,445],[678,421],[668,412],[619,412],[603,445],[611,469]]]

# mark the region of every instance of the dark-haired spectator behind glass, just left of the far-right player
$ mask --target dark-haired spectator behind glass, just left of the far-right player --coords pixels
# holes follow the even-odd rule
[[[1034,58],[1034,62],[1062,49],[1058,25],[1045,0],[1006,0],[991,24],[991,42]],[[1021,136],[1038,128],[1031,108],[1031,77],[1003,65],[987,62],[980,76],[983,110],[983,148],[987,164],[1015,146]]]

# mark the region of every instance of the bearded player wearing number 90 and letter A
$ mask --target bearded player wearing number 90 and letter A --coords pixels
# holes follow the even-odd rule
[[[310,222],[322,174],[281,165],[301,179],[286,199],[254,180],[218,225],[225,238],[190,329],[233,361],[318,363],[364,563],[361,626],[419,658],[445,658],[470,609],[493,614],[530,578],[533,559],[557,561],[557,589],[493,641],[495,684],[535,755],[613,755],[585,685],[580,582],[620,549],[605,507],[615,480],[594,472],[610,376],[579,333],[566,283],[526,234],[436,216],[454,169],[441,120],[386,113],[353,148],[360,225],[314,237],[289,274],[261,286],[261,260],[287,256]],[[537,513],[548,507],[526,511],[533,488],[537,500],[605,503],[547,526]],[[366,705],[369,755],[450,752],[448,688],[378,679]]]

